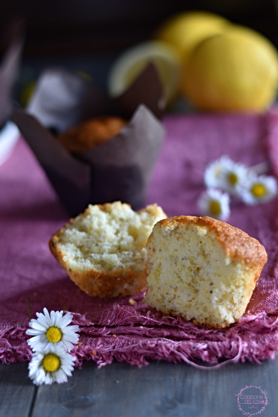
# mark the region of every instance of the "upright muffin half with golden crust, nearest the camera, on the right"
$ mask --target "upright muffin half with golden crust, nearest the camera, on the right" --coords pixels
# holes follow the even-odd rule
[[[267,261],[256,239],[210,217],[159,221],[147,250],[146,303],[216,328],[244,314]]]

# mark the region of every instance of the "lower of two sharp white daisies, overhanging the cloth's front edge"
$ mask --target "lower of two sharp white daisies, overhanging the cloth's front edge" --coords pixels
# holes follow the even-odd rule
[[[35,352],[28,365],[29,377],[36,385],[68,382],[75,359],[63,347],[52,346],[48,350]]]

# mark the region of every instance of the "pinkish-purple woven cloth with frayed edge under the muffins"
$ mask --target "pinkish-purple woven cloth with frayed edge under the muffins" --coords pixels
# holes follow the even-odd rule
[[[222,154],[253,166],[269,158],[278,174],[278,113],[234,116],[168,116],[167,137],[155,166],[148,203],[168,216],[198,215],[205,166]],[[269,156],[268,156],[269,153]],[[278,205],[232,208],[229,223],[258,239],[268,253],[248,314],[229,328],[208,330],[162,317],[141,301],[143,294],[113,300],[93,298],[68,278],[48,249],[54,231],[68,220],[48,179],[23,139],[0,167],[0,359],[30,358],[26,300],[36,311],[66,306],[80,326],[77,364],[99,366],[113,359],[141,366],[150,359],[197,359],[216,365],[274,358],[278,350]],[[206,369],[206,368],[205,368]],[[210,369],[210,367],[208,368]]]

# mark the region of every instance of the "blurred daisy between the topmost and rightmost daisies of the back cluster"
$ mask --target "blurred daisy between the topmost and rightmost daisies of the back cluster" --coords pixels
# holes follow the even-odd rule
[[[227,159],[225,168],[219,178],[219,188],[228,191],[230,194],[238,194],[238,190],[245,182],[247,176],[248,169],[243,163]]]

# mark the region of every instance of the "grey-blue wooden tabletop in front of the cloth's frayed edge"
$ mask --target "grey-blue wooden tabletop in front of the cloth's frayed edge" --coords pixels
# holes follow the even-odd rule
[[[237,397],[245,385],[261,386],[278,410],[278,359],[262,364],[200,370],[186,364],[152,362],[141,369],[92,362],[75,369],[67,384],[35,387],[27,363],[0,365],[0,417],[237,417]]]

